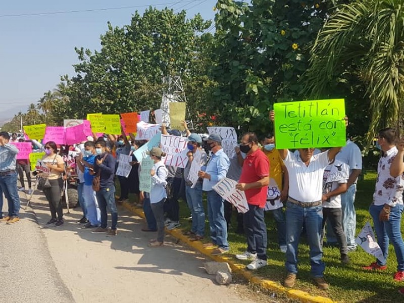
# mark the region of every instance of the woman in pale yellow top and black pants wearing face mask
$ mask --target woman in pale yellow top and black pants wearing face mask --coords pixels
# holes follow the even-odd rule
[[[51,183],[51,187],[43,189],[52,216],[51,220],[46,222],[46,224],[56,223],[56,227],[63,225],[61,193],[63,188],[62,173],[65,171],[65,162],[57,153],[58,148],[56,143],[48,141],[45,144],[46,155],[41,160],[42,166],[49,170],[49,172],[42,172],[41,177],[47,177]]]

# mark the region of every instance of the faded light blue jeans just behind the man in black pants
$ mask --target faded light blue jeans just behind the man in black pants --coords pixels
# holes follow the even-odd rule
[[[355,212],[355,193],[357,185],[352,184],[348,190],[341,194],[341,208],[342,208],[342,228],[346,236],[346,245],[348,250],[355,249],[357,243],[355,242],[355,232],[357,229],[357,214]],[[329,222],[328,222],[329,223]],[[337,243],[337,238],[332,231],[331,224],[327,224],[327,242]]]

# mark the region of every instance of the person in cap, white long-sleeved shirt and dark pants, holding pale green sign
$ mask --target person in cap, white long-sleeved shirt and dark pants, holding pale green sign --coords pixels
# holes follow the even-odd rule
[[[162,157],[166,156],[161,148],[153,147],[147,152],[155,165],[150,170],[151,176],[151,190],[150,190],[150,206],[153,215],[157,222],[157,239],[151,239],[149,247],[160,247],[164,243],[164,203],[167,199],[166,185],[167,185],[167,168]]]

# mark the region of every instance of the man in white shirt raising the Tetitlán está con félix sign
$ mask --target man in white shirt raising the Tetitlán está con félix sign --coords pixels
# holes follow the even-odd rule
[[[270,112],[274,121],[275,113]],[[286,269],[285,287],[293,287],[297,274],[297,245],[302,227],[305,226],[310,247],[311,274],[320,289],[328,289],[323,278],[325,264],[322,262],[323,248],[320,243],[323,211],[323,174],[334,161],[341,147],[333,147],[313,156],[315,148],[299,148],[299,155],[288,149],[278,149],[289,173],[289,197],[286,209]]]

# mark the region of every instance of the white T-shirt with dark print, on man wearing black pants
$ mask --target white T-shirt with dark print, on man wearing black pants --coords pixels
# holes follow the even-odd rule
[[[337,189],[339,184],[346,183],[349,178],[349,167],[346,163],[335,160],[325,168],[323,177],[323,193],[328,193]],[[323,201],[325,208],[341,208],[341,195],[330,197],[329,200]]]

